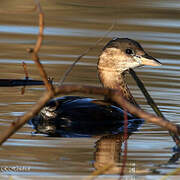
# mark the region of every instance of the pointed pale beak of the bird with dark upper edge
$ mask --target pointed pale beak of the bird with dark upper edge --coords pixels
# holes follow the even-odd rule
[[[147,66],[160,66],[162,65],[157,59],[153,58],[152,56],[149,56],[148,54],[142,55],[140,57],[141,64],[147,65]]]

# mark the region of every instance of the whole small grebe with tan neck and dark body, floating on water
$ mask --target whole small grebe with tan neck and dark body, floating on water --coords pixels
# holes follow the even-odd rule
[[[118,89],[122,96],[139,106],[126,82],[130,68],[161,63],[150,56],[135,40],[113,38],[102,49],[98,58],[98,77],[105,88]],[[61,137],[86,137],[102,134],[119,134],[124,130],[124,110],[109,97],[96,100],[81,96],[64,96],[51,99],[29,123],[37,133]],[[127,112],[127,130],[136,131],[143,119]]]

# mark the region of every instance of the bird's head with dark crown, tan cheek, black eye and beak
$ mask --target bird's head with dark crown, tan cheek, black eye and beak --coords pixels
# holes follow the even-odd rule
[[[98,69],[116,70],[120,73],[139,66],[159,66],[161,63],[148,55],[141,45],[132,39],[112,39],[104,47]]]

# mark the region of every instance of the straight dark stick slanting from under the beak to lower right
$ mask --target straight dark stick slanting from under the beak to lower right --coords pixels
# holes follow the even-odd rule
[[[164,115],[162,114],[162,112],[160,111],[160,109],[158,108],[158,106],[156,105],[156,103],[154,102],[154,100],[152,99],[152,97],[150,96],[150,94],[148,93],[148,91],[146,90],[143,82],[138,78],[138,76],[136,75],[136,73],[134,72],[133,69],[129,70],[129,73],[131,74],[131,76],[133,77],[133,79],[136,81],[138,87],[140,88],[140,90],[142,91],[142,93],[144,94],[144,96],[146,97],[146,100],[148,102],[148,104],[152,107],[152,109],[154,110],[154,112],[157,114],[157,116],[162,117],[163,119],[165,119],[166,121],[169,121],[168,119],[166,119],[164,117]],[[180,139],[179,137],[172,133],[171,131],[169,131],[169,134],[171,135],[173,141],[176,143],[176,145],[178,147],[180,147]]]

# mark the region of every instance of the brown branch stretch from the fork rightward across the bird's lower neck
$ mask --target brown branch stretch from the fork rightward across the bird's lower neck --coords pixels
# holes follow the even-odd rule
[[[158,126],[161,126],[164,129],[170,130],[177,135],[180,135],[180,127],[178,125],[174,125],[171,122],[166,121],[161,117],[157,117],[153,114],[147,113],[142,109],[137,108],[136,106],[129,103],[121,96],[121,92],[118,90],[99,88],[93,86],[82,86],[82,85],[62,85],[56,88],[55,94],[69,94],[72,92],[81,92],[85,94],[97,94],[97,95],[107,95],[111,97],[111,99],[119,104],[123,109],[127,109],[128,112],[134,114],[149,123],[154,123]]]

